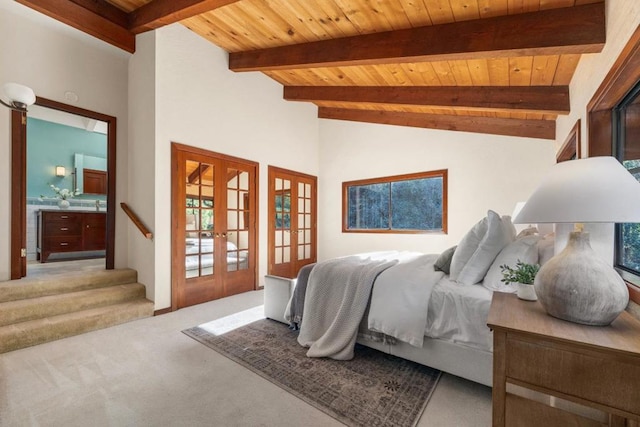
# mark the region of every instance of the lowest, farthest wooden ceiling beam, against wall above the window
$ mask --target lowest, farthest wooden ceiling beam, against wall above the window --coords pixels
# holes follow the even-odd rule
[[[555,120],[520,120],[326,107],[318,108],[318,118],[525,138],[553,140],[556,137]]]

